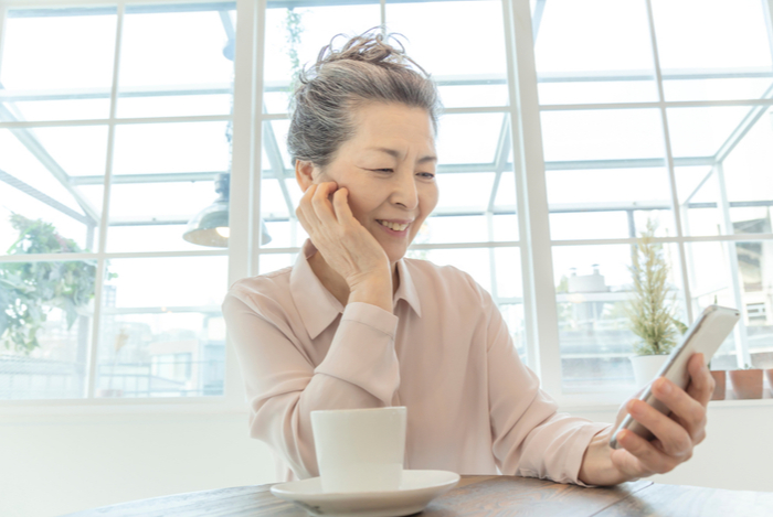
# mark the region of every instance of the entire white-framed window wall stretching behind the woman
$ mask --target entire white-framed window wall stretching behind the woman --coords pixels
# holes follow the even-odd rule
[[[649,222],[685,323],[743,310],[716,364],[773,364],[769,0],[0,0],[0,399],[227,399],[229,282],[306,238],[293,80],[379,25],[445,106],[409,256],[489,290],[552,395],[629,395]]]

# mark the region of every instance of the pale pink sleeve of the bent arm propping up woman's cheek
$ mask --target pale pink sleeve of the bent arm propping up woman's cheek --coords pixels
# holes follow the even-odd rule
[[[400,385],[394,314],[367,303],[347,305],[315,368],[280,317],[258,314],[232,294],[222,309],[246,387],[250,435],[269,444],[299,478],[319,475],[311,411],[391,403]]]

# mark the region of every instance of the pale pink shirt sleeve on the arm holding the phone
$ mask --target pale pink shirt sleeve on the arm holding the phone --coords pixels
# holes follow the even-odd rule
[[[608,424],[558,412],[555,401],[518,357],[494,300],[477,289],[488,316],[488,389],[497,466],[508,475],[583,485],[578,476],[585,450]]]

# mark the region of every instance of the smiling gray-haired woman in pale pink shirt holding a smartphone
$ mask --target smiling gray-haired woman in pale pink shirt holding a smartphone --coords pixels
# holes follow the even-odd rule
[[[557,412],[467,273],[404,258],[437,204],[435,85],[366,33],[325,47],[295,90],[288,146],[310,239],[295,266],[236,282],[223,314],[250,400],[250,432],[280,477],[318,475],[310,412],[407,407],[405,468],[611,485],[664,473],[703,440],[713,380],[696,355],[687,391],[660,379],[656,439]]]

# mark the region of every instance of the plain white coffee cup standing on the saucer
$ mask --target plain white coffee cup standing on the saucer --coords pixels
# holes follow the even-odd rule
[[[400,488],[405,407],[311,411],[322,492]]]

